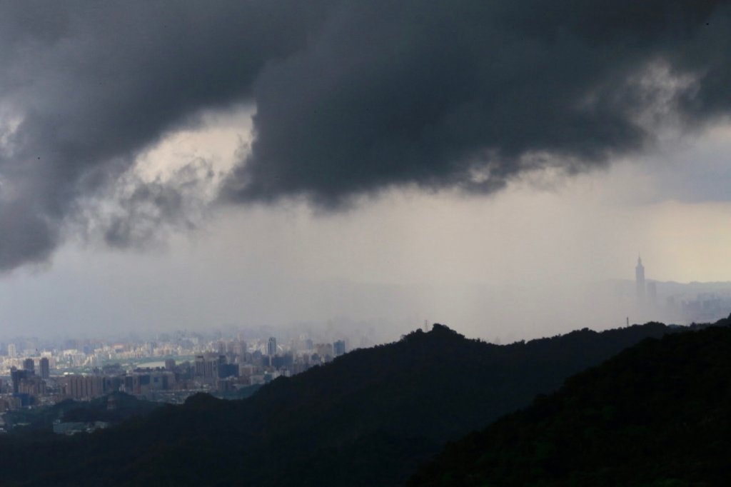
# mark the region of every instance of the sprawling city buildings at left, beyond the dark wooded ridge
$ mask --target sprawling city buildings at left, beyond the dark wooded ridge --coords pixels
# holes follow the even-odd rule
[[[0,348],[1,414],[49,406],[67,399],[88,401],[113,392],[178,404],[195,393],[235,395],[251,385],[299,374],[350,349],[350,339],[314,341],[306,333],[205,340],[197,333],[164,333],[155,341],[67,340],[39,347],[37,339]],[[358,346],[369,346],[360,337]]]

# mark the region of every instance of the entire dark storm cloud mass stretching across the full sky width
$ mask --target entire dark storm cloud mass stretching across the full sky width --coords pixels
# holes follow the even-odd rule
[[[601,164],[669,114],[728,113],[729,15],[690,0],[4,2],[0,268],[48,257],[136,154],[243,100],[255,140],[225,200],[491,191]],[[129,208],[158,201],[164,218],[183,195],[149,191]],[[107,240],[135,238],[115,222]]]

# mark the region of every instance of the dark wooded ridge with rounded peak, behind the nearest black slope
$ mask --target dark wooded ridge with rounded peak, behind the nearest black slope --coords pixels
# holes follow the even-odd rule
[[[5,485],[402,485],[479,429],[667,328],[585,329],[506,346],[443,325],[280,378],[243,401],[195,396],[89,436],[0,439]],[[42,463],[37,458],[44,458]]]

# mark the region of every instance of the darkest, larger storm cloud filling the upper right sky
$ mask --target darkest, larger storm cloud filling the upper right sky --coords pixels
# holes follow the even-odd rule
[[[349,4],[257,77],[257,139],[232,193],[338,205],[600,164],[645,148],[668,112],[727,113],[730,39],[725,2]]]

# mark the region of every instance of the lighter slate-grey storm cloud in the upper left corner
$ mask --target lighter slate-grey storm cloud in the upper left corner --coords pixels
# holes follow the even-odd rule
[[[79,198],[126,173],[137,151],[202,108],[250,97],[324,5],[0,4],[0,270],[45,259]]]

